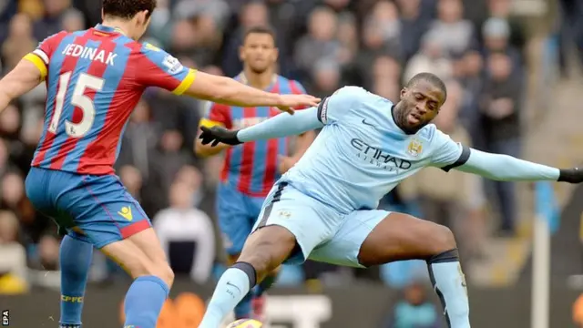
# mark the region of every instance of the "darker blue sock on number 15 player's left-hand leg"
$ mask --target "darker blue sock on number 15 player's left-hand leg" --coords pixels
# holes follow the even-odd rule
[[[83,297],[93,258],[93,245],[65,236],[59,250],[61,267],[61,328],[81,327]]]

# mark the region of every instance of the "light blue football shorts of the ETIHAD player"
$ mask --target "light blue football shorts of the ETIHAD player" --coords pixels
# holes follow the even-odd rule
[[[363,241],[389,213],[354,210],[343,214],[287,182],[278,182],[265,199],[252,231],[270,225],[291,231],[302,251],[292,254],[286,264],[301,264],[310,259],[363,268],[358,261]]]

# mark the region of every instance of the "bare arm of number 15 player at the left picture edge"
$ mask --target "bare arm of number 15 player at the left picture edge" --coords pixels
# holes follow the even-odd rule
[[[44,74],[44,75],[43,75]],[[28,59],[23,59],[0,80],[0,112],[10,102],[32,90],[46,76],[46,71],[40,69]]]

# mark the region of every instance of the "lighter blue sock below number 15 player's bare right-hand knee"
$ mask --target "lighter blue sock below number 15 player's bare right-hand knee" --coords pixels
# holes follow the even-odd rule
[[[138,277],[129,286],[124,302],[126,323],[136,328],[156,328],[162,305],[168,297],[169,287],[156,276]]]

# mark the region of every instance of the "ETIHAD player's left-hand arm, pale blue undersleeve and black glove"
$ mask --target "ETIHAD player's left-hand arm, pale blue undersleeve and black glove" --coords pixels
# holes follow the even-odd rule
[[[202,133],[199,138],[203,145],[217,146],[220,142],[227,145],[238,145],[243,142],[283,138],[302,134],[316,128],[322,128],[323,124],[318,119],[318,108],[307,108],[295,113],[295,115],[278,115],[240,130],[229,130],[221,127],[200,127]]]

